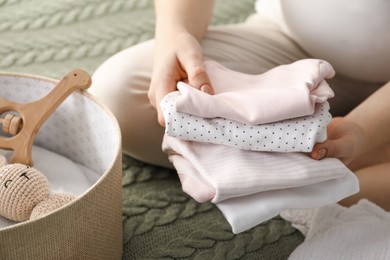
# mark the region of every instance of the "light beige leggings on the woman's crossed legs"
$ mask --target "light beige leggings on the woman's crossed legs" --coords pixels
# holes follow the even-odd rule
[[[201,42],[205,59],[248,74],[265,71],[310,56],[278,25],[258,14],[245,23],[211,27]],[[154,40],[125,49],[94,73],[90,92],[114,113],[122,131],[123,152],[141,161],[172,168],[161,150],[164,129],[147,93],[153,67]],[[348,113],[380,85],[342,76],[329,81],[333,116]]]

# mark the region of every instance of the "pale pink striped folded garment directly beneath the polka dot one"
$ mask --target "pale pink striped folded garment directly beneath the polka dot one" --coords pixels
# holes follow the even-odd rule
[[[163,150],[183,190],[214,203],[263,191],[301,187],[350,173],[339,160],[316,161],[302,153],[268,153],[164,136]]]

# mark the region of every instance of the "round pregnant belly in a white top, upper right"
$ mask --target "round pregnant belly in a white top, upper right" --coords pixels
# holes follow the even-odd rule
[[[390,80],[390,1],[281,0],[292,37],[337,74]]]

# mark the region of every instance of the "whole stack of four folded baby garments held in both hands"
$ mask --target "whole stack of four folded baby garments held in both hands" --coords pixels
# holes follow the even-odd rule
[[[304,59],[260,75],[206,61],[215,95],[184,82],[161,101],[166,121],[163,150],[182,188],[211,201],[234,233],[283,209],[319,207],[358,191],[353,173],[338,159],[311,159],[327,138],[331,120],[323,60]]]

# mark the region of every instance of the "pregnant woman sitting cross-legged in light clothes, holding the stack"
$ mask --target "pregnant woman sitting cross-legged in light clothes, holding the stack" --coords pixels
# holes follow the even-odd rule
[[[172,167],[161,151],[159,103],[180,80],[212,94],[204,59],[261,74],[321,58],[337,73],[329,81],[335,118],[310,155],[339,158],[359,178],[361,191],[341,204],[364,197],[390,210],[390,2],[264,0],[246,22],[212,28],[213,1],[156,0],[155,7],[155,39],[114,55],[93,76],[91,92],[117,116],[125,153]]]

